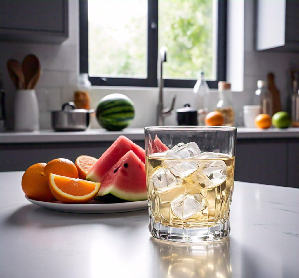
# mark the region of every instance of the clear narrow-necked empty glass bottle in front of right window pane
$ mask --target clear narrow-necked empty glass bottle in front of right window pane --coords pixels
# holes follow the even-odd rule
[[[195,108],[197,110],[198,124],[205,124],[205,116],[208,114],[210,88],[205,81],[204,72],[198,74],[198,80],[193,88],[195,95]]]

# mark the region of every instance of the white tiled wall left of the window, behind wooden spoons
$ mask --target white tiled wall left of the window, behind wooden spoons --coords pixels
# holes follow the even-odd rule
[[[42,73],[36,87],[39,101],[40,127],[51,127],[48,110],[60,109],[69,101],[79,72],[79,6],[78,0],[69,0],[69,38],[61,45],[45,45],[20,42],[0,42],[0,72],[3,74],[6,97],[7,126],[13,127],[13,100],[15,88],[11,82],[6,62],[25,55],[35,54],[41,63]]]

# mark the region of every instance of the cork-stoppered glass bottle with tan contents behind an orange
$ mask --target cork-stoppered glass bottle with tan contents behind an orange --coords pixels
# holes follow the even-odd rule
[[[235,112],[233,106],[233,97],[231,93],[231,83],[225,81],[218,82],[219,101],[216,105],[216,111],[219,111],[224,117],[224,126],[234,126]]]

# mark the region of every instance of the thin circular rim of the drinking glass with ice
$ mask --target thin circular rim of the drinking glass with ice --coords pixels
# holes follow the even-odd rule
[[[234,131],[234,126],[147,126],[149,131]]]

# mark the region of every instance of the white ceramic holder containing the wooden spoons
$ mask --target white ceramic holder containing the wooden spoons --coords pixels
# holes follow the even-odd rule
[[[39,109],[35,90],[17,90],[15,98],[15,130],[39,129]]]

